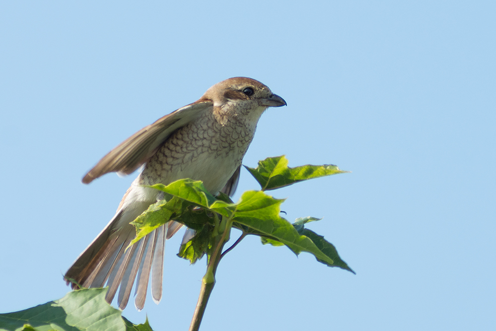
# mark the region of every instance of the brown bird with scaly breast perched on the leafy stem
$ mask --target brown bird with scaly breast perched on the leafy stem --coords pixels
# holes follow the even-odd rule
[[[161,199],[159,191],[146,186],[190,178],[201,180],[213,195],[223,192],[232,196],[260,116],[268,107],[286,105],[283,98],[255,79],[229,78],[112,149],[83,177],[84,184],[110,172],[128,175],[142,170],[124,194],[115,216],[64,274],[67,284],[72,289],[107,284],[105,298],[109,303],[120,287],[118,306],[124,310],[136,279],[134,306],[140,311],[151,275],[152,298],[158,304],[162,298],[165,241],[182,224],[169,220],[126,249],[136,236],[135,227],[129,223]]]

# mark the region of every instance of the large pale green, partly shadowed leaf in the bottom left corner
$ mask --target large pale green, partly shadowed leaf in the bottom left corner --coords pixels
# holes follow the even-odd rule
[[[107,288],[81,289],[62,299],[0,314],[1,331],[124,331],[121,311],[105,301]]]

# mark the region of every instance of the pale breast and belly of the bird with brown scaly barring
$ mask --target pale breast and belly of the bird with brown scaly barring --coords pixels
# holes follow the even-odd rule
[[[256,122],[209,112],[174,132],[146,163],[141,185],[168,185],[178,179],[201,180],[217,194],[241,165]]]

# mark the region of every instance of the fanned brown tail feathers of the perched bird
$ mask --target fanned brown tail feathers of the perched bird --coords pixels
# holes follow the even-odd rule
[[[73,289],[103,287],[107,283],[109,290],[105,298],[109,303],[114,299],[120,285],[118,305],[121,309],[127,305],[132,285],[137,279],[134,304],[139,311],[145,303],[150,272],[153,301],[158,303],[162,298],[165,241],[169,224],[173,222],[155,229],[127,248],[136,236],[136,230],[129,222],[141,211],[126,209],[122,208],[117,212],[67,270],[64,279],[67,283],[72,283]],[[176,227],[173,227],[175,231],[178,230]]]

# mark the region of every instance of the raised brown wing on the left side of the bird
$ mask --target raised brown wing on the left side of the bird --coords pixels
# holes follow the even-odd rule
[[[144,127],[105,155],[84,177],[83,183],[109,172],[130,174],[145,163],[172,132],[201,116],[213,103],[200,99]]]

